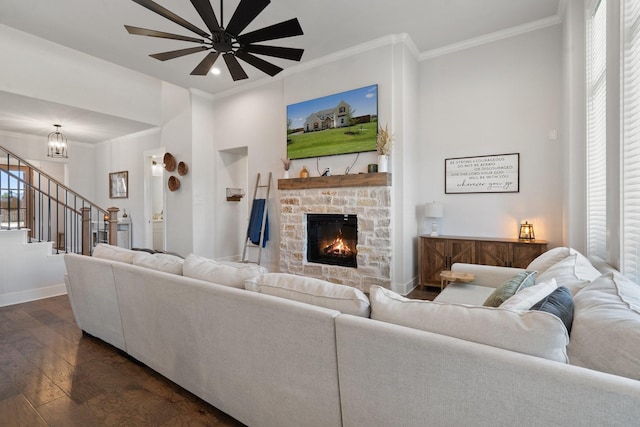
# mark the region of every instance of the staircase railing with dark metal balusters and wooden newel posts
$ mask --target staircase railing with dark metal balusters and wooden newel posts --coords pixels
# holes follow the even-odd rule
[[[117,245],[118,208],[103,209],[0,146],[0,229],[28,229],[29,242],[52,242],[55,253],[90,255]]]

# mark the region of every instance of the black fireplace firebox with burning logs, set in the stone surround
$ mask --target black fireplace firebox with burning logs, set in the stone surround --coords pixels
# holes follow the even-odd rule
[[[355,268],[357,245],[356,215],[307,215],[307,261]]]

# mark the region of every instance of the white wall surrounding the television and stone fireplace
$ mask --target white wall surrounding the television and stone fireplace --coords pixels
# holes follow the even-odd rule
[[[342,52],[323,62],[314,64],[281,79],[227,96],[216,97],[214,101],[214,144],[217,151],[244,150],[248,158],[248,198],[251,198],[255,177],[261,173],[266,177],[273,172],[274,186],[282,176],[281,158],[286,158],[286,106],[289,104],[331,95],[354,88],[378,84],[378,116],[382,125],[396,136],[396,150],[391,157],[391,172],[394,174],[394,235],[392,237],[393,265],[392,282],[398,290],[405,291],[415,278],[415,236],[417,235],[413,193],[416,164],[413,160],[417,151],[417,53],[407,48],[405,36],[390,36],[361,46],[358,50]],[[410,138],[405,143],[405,139]],[[406,144],[406,145],[405,145]],[[226,154],[225,154],[226,156]],[[227,162],[231,162],[226,157]],[[303,165],[318,176],[319,171],[331,167],[334,175],[343,174],[356,159],[355,154],[300,159],[292,162],[291,174],[296,176]],[[362,153],[351,173],[366,172],[367,164],[376,162],[375,152]],[[233,162],[231,162],[233,163]],[[223,165],[222,161],[218,165]],[[406,167],[405,167],[406,166]],[[224,186],[232,182],[230,176],[221,176],[216,183],[215,212],[224,212],[229,207],[224,198]],[[397,181],[396,181],[397,180]],[[398,183],[398,184],[396,184]],[[403,185],[406,183],[406,185]],[[246,205],[249,209],[249,204]],[[279,261],[279,206],[277,192],[273,193],[270,205],[270,241],[263,251],[266,266],[273,271]],[[409,212],[407,214],[407,212]],[[246,218],[239,215],[237,220],[227,216],[218,223],[217,235],[223,233],[221,227],[242,229],[236,240],[244,242],[245,227],[238,221]],[[407,221],[408,219],[408,221]],[[231,236],[229,236],[231,238]],[[229,256],[229,239],[218,239],[216,256]],[[409,288],[410,289],[410,288]]]

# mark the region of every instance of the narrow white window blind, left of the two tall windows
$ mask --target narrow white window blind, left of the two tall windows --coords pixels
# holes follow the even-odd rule
[[[587,35],[587,251],[607,252],[607,0],[598,2]]]

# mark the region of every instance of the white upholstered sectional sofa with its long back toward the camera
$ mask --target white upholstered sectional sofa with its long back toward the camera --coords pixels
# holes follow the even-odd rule
[[[177,274],[175,260],[118,256],[65,255],[79,327],[250,426],[631,426],[640,420],[637,380],[397,324],[405,319],[392,315],[405,302],[382,288],[372,290],[369,307],[361,292],[316,279],[190,256],[183,273],[197,270],[194,279]],[[249,273],[251,291],[239,289],[235,278]],[[456,290],[450,285],[442,298]],[[385,316],[389,321],[376,320]],[[557,328],[549,316],[536,318]]]

